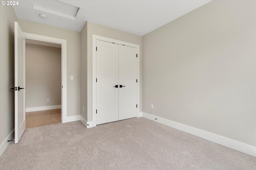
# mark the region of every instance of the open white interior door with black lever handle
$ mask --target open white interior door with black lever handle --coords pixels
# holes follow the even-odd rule
[[[15,41],[15,138],[14,142],[18,143],[20,137],[26,129],[26,111],[25,111],[25,45],[22,29],[17,22],[14,23],[14,41]]]

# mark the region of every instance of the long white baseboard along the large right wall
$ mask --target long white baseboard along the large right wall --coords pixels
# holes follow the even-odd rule
[[[181,131],[184,131],[186,133],[190,133],[192,135],[201,137],[203,139],[206,139],[208,141],[212,141],[214,143],[218,143],[220,145],[223,145],[225,147],[234,149],[234,150],[238,150],[240,152],[249,154],[251,156],[256,157],[256,147],[252,146],[252,145],[248,145],[246,143],[242,143],[239,141],[236,141],[234,139],[229,139],[227,137],[223,137],[220,135],[216,135],[214,133],[210,133],[207,131],[203,131],[201,129],[197,129],[188,125],[184,125],[175,121],[171,121],[168,119],[164,119],[162,117],[158,117],[155,115],[151,115],[145,112],[142,112],[142,117],[146,117],[148,119],[151,119],[153,121],[162,123],[164,125],[170,126],[170,127],[174,127],[175,129],[179,129]]]

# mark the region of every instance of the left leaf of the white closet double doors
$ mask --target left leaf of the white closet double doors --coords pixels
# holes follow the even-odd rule
[[[97,125],[118,121],[118,45],[97,40]]]

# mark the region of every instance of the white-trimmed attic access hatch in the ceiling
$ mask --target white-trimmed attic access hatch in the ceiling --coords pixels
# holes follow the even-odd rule
[[[34,9],[55,14],[72,20],[76,19],[80,8],[58,0],[33,0]]]

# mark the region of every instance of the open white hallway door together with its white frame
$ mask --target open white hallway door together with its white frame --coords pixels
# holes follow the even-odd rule
[[[44,35],[25,33],[14,22],[14,143],[26,129],[26,41],[35,40],[61,45],[61,122],[67,122],[67,41]],[[49,99],[50,101],[50,99]]]

